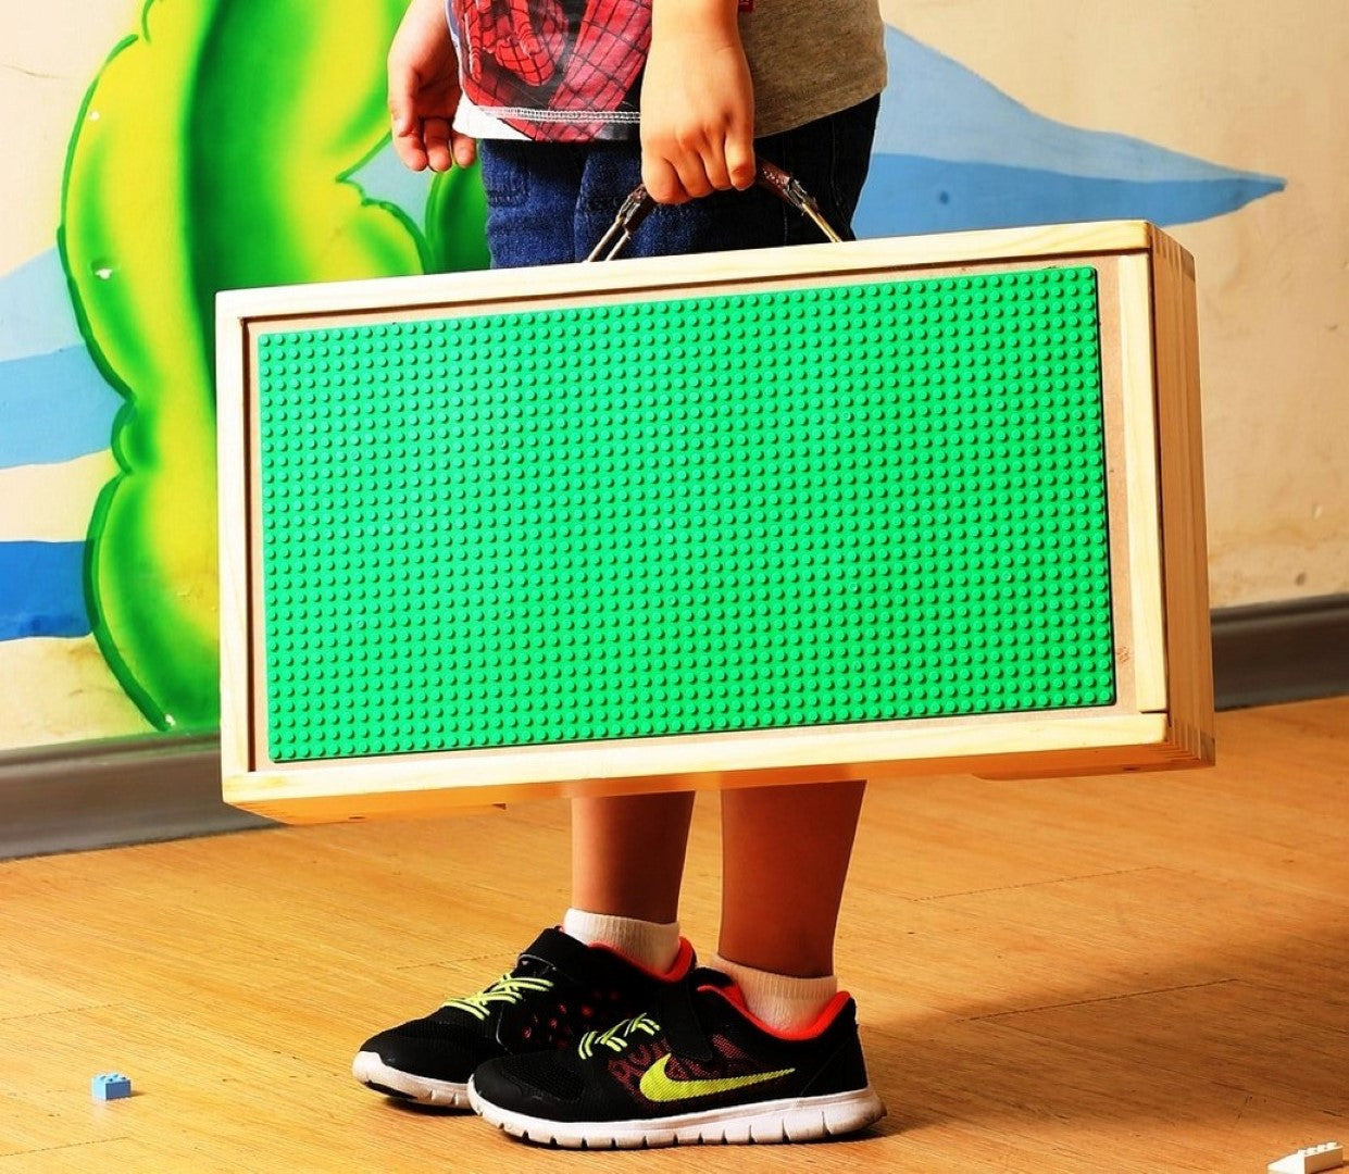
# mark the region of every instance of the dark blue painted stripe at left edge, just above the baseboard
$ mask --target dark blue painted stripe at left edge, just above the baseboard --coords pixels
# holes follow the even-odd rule
[[[88,636],[84,542],[0,542],[0,640]]]

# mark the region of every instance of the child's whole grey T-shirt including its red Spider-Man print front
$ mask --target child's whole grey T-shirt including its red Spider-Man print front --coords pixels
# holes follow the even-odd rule
[[[447,9],[464,90],[456,130],[545,142],[637,136],[650,0],[448,0]],[[755,136],[885,86],[877,0],[741,0],[739,24]]]

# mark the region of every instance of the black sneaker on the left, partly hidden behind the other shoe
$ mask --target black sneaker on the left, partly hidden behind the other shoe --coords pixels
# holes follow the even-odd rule
[[[483,1061],[568,1047],[592,1027],[650,1007],[692,965],[683,941],[670,972],[654,974],[604,946],[544,930],[484,990],[367,1039],[352,1075],[391,1097],[467,1109],[465,1085]]]

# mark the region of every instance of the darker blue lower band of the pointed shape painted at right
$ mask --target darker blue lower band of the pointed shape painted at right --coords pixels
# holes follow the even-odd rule
[[[853,227],[858,236],[893,236],[1082,220],[1188,224],[1234,212],[1283,186],[1263,177],[1145,182],[876,155]]]

